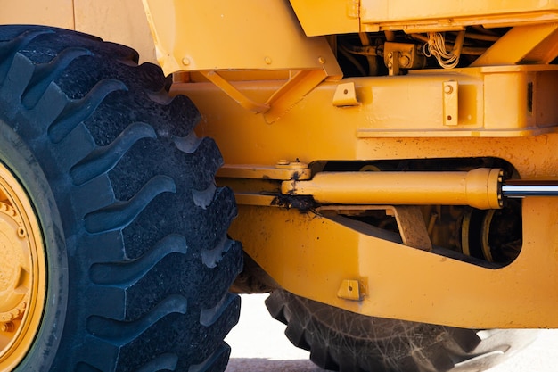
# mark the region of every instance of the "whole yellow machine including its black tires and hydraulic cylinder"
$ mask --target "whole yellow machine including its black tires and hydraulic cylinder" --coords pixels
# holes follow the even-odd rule
[[[32,286],[25,295],[35,299],[35,317],[21,305],[27,301],[11,300],[7,310],[0,303],[0,369],[34,368],[35,337],[42,345],[53,324],[64,325],[48,328],[62,346],[41,362],[44,369],[60,368],[74,343],[115,355],[101,362],[79,349],[71,353],[78,369],[224,368],[221,336],[238,311],[226,288],[242,265],[226,234],[245,254],[234,291],[273,292],[272,315],[324,368],[480,370],[514,350],[502,346],[508,341],[486,350],[483,341],[516,334],[479,329],[558,327],[555,1],[39,3],[41,12],[23,0],[0,14],[4,23],[48,26],[1,30],[7,135],[0,140],[11,150],[0,151],[0,161],[15,175],[6,183],[21,185],[4,192],[3,203],[17,210],[14,201],[28,194],[30,207],[18,213],[37,219],[43,233],[33,242],[42,246],[51,225],[62,238],[38,249],[45,257],[24,250],[38,261],[37,273],[21,282]],[[139,21],[138,13],[146,17]],[[53,26],[135,46],[147,61],[156,57],[167,78],[152,64],[137,66],[127,48]],[[64,102],[60,112],[47,104],[56,100]],[[37,120],[37,107],[50,111]],[[155,139],[164,150],[144,145]],[[132,161],[120,164],[127,156]],[[24,169],[39,164],[42,196],[29,171],[14,165],[20,158]],[[80,195],[91,194],[100,175],[110,180],[94,209]],[[65,192],[57,191],[60,180]],[[157,199],[176,193],[173,202]],[[52,219],[37,198],[55,206]],[[226,233],[234,202],[238,217]],[[172,217],[159,217],[163,211]],[[17,236],[19,219],[6,220],[5,235]],[[106,247],[106,257],[77,248],[104,234],[111,239],[95,246]],[[12,251],[11,260],[20,260]],[[167,261],[170,254],[187,261],[193,277]],[[63,262],[53,266],[53,256]],[[48,275],[60,268],[59,296]],[[13,279],[5,283],[26,277],[3,270]],[[157,277],[168,282],[156,285]],[[23,296],[22,285],[12,286],[10,299]],[[118,314],[84,305],[80,293],[103,297],[99,288],[118,297]],[[68,318],[53,315],[62,314],[53,299]],[[15,310],[16,323],[2,320]],[[206,340],[203,355],[175,351],[170,340],[168,350],[127,360],[136,343],[151,350],[150,337],[162,335],[157,324],[174,332],[169,318],[153,315],[165,311],[200,329],[176,339]],[[116,324],[134,332],[119,338],[108,326]],[[376,331],[398,342],[374,338]],[[352,346],[338,343],[340,335]],[[427,342],[416,346],[417,335]]]

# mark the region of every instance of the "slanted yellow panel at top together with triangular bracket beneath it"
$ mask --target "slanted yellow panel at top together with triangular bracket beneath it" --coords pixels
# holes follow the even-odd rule
[[[144,6],[166,73],[200,71],[245,109],[264,113],[268,122],[279,119],[324,79],[341,79],[327,40],[305,37],[286,1],[144,0]],[[200,42],[198,30],[208,26],[210,32]],[[291,70],[291,76],[254,101],[221,70]]]

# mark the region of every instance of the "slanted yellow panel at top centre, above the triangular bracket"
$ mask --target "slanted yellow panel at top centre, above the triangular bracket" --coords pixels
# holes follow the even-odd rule
[[[306,37],[286,0],[144,0],[157,55],[177,70],[328,70],[324,37]]]

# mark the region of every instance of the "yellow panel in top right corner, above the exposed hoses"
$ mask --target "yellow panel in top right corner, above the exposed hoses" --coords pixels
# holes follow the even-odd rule
[[[290,1],[308,36],[385,30],[447,31],[470,25],[508,27],[558,20],[555,0]]]

